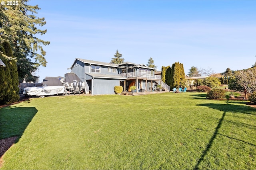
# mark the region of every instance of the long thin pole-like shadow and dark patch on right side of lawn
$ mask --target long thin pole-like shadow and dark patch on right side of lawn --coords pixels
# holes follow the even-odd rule
[[[232,104],[230,104],[229,101],[227,101],[227,104],[199,104],[197,106],[207,106],[207,107],[212,108],[212,109],[217,109],[217,110],[223,111],[223,115],[222,115],[217,127],[215,128],[215,132],[212,135],[208,145],[206,146],[206,149],[202,152],[201,158],[200,158],[200,160],[198,160],[194,169],[199,169],[198,166],[202,162],[202,160],[204,160],[204,156],[206,156],[207,152],[211,148],[212,143],[213,143],[214,139],[216,138],[216,135],[218,134],[218,131],[219,131],[221,125],[222,125],[222,122],[223,122],[224,117],[225,117],[227,112],[256,115],[255,108],[252,108],[252,107],[249,107],[249,106],[242,106],[242,105],[232,105]],[[231,137],[229,137],[229,138],[231,138]],[[234,138],[232,138],[232,139],[234,139]],[[236,140],[238,140],[238,139],[236,139]],[[241,141],[241,140],[239,140],[239,141]],[[242,141],[242,142],[245,142],[245,141]],[[252,144],[250,144],[250,145],[252,145]]]

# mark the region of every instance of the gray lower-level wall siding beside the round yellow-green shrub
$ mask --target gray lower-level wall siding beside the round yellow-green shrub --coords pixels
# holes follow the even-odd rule
[[[95,78],[92,94],[115,94],[114,86],[120,86],[120,80]]]

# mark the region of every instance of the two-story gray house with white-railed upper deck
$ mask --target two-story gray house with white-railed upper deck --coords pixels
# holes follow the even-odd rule
[[[156,69],[144,64],[112,64],[76,58],[71,70],[85,83],[86,92],[93,95],[114,94],[114,86],[122,86],[124,91],[137,86],[137,92],[139,89],[147,92],[162,84],[161,76],[154,74]]]

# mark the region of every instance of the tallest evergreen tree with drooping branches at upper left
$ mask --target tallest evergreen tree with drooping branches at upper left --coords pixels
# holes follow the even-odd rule
[[[40,65],[46,66],[44,56],[46,52],[42,45],[49,45],[49,41],[39,39],[38,35],[46,33],[36,26],[46,24],[44,18],[38,18],[34,14],[40,10],[38,5],[30,6],[29,0],[18,0],[15,6],[0,6],[0,41],[10,42],[14,57],[17,59],[19,80],[32,75]],[[31,62],[31,59],[35,62]]]

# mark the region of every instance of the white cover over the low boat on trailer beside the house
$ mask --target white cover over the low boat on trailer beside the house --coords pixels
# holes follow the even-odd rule
[[[23,94],[30,96],[46,96],[55,94],[64,94],[65,86],[42,86],[42,87],[26,87]]]

